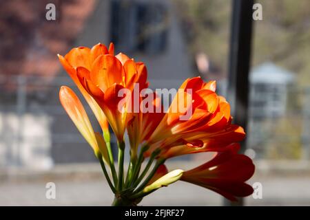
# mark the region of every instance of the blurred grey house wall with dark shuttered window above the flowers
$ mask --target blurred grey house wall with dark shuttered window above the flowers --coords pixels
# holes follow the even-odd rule
[[[194,73],[176,14],[171,0],[99,1],[75,45],[113,41],[116,52],[147,65],[152,87],[178,88]]]

